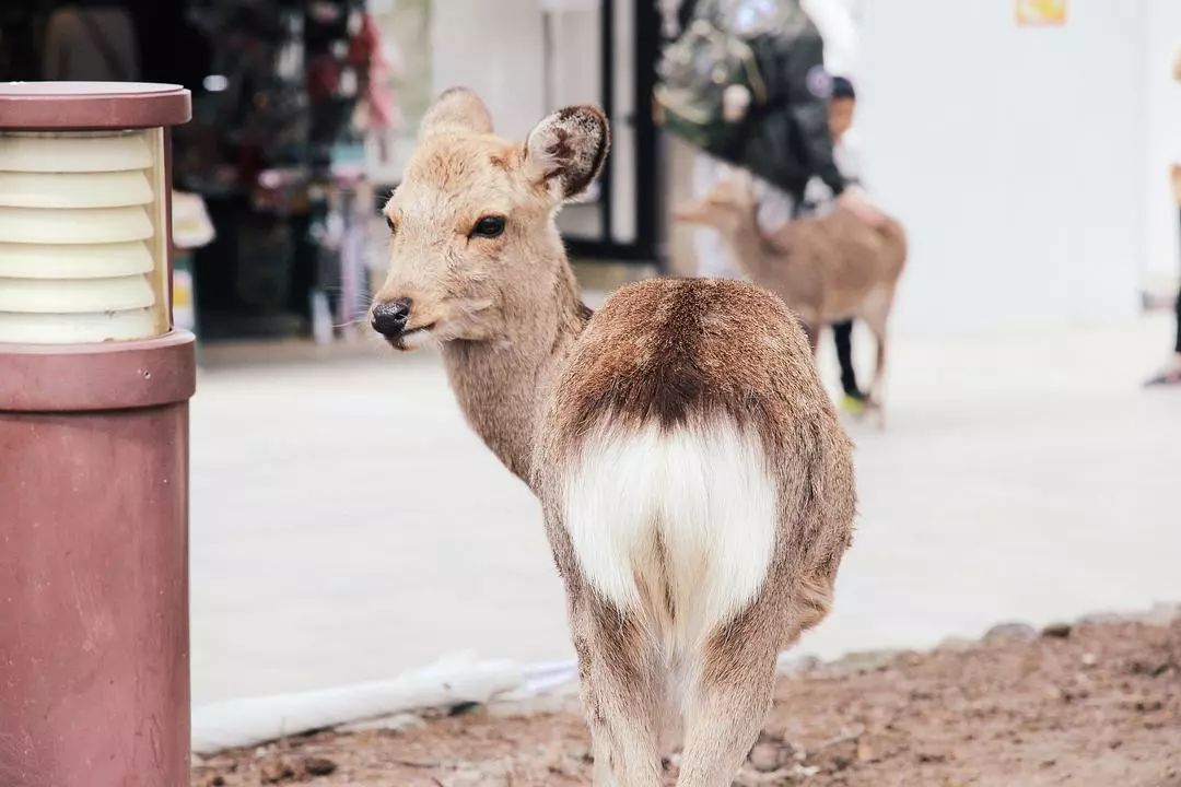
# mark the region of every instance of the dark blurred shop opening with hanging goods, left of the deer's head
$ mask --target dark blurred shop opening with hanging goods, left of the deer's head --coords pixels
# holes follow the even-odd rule
[[[0,79],[193,91],[174,186],[214,235],[182,257],[177,297],[195,295],[202,339],[331,339],[364,313],[365,142],[391,119],[364,0],[5,4],[0,35]]]

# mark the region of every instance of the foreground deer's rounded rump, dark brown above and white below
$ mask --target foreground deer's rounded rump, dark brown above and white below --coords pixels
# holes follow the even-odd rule
[[[792,596],[821,553],[843,551],[853,493],[834,421],[803,333],[770,293],[622,288],[576,342],[541,425],[559,569],[666,663],[699,654],[768,586]]]

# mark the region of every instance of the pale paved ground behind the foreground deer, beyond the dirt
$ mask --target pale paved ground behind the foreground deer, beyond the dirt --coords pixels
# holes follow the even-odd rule
[[[1168,330],[900,339],[889,429],[850,426],[861,519],[836,609],[801,650],[1181,601],[1181,392],[1138,387]],[[570,654],[539,509],[429,355],[204,372],[191,543],[197,704],[456,649]]]

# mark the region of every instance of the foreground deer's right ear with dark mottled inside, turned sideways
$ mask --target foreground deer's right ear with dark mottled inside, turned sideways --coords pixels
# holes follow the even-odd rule
[[[559,199],[572,199],[590,185],[611,145],[607,118],[596,106],[568,106],[529,132],[524,166]]]

